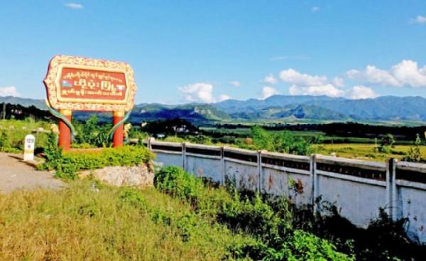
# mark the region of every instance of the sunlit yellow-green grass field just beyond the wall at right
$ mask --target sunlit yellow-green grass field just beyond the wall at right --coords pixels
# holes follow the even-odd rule
[[[394,148],[391,148],[390,153],[381,153],[377,152],[376,145],[374,144],[353,144],[353,143],[343,143],[343,144],[321,144],[315,145],[317,148],[317,153],[323,155],[332,155],[336,153],[337,157],[349,157],[359,160],[374,160],[374,161],[385,161],[387,158],[395,157],[400,159],[404,157],[412,145],[395,145]],[[423,157],[426,157],[426,146],[420,147],[420,152]]]

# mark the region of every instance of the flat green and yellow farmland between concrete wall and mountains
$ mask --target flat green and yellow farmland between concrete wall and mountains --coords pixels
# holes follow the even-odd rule
[[[374,129],[376,127],[363,126],[363,128],[370,128],[370,133],[368,133],[367,130],[364,133],[362,131],[353,131],[353,133],[350,131],[346,133],[340,131],[340,135],[330,134],[329,130],[327,130],[327,132],[317,129],[307,130],[307,128],[312,128],[312,126],[285,126],[285,128],[264,126],[263,128],[266,128],[266,131],[271,135],[280,135],[280,133],[285,131],[285,133],[288,133],[288,135],[291,135],[296,139],[312,140],[314,144],[312,144],[312,150],[310,150],[311,153],[381,162],[391,157],[402,159],[408,155],[410,148],[413,148],[416,136],[414,133],[417,132],[420,133],[420,154],[422,157],[426,157],[425,137],[422,136],[423,128],[421,127],[416,127],[414,129],[400,129],[395,128],[394,126],[381,126],[380,130],[371,130],[371,128]],[[318,127],[314,126],[314,128]],[[350,129],[350,124],[349,126],[344,126],[344,128]],[[253,146],[247,144],[251,143],[251,138],[253,138],[253,133],[249,126],[202,126],[200,127],[200,130],[204,135],[211,138],[212,143],[231,147],[255,149]],[[398,130],[401,131],[398,133]],[[381,140],[385,136],[386,131],[393,132],[393,136],[396,138],[393,145],[391,145],[388,150],[380,150]],[[339,130],[332,130],[332,132],[339,133]],[[168,138],[165,138],[165,140],[191,142],[191,140],[187,140],[187,138],[185,138],[185,135],[169,136]]]

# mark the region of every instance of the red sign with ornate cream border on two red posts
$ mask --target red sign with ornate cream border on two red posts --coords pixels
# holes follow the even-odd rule
[[[123,145],[123,123],[134,105],[136,84],[125,62],[57,55],[50,60],[43,81],[46,104],[60,118],[59,146],[70,149],[72,111],[113,113],[113,146]]]

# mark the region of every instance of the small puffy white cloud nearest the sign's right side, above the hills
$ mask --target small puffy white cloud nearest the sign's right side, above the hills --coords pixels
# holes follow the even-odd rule
[[[188,84],[184,87],[179,87],[178,89],[182,94],[184,94],[185,100],[187,101],[212,103],[230,99],[230,97],[226,94],[222,94],[216,99],[213,96],[213,85],[205,82]]]

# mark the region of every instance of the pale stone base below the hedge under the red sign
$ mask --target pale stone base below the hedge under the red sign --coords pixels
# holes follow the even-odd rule
[[[133,167],[104,167],[99,170],[84,170],[79,177],[92,175],[95,179],[113,186],[152,187],[154,173],[146,165]]]

